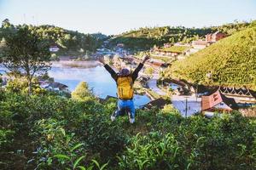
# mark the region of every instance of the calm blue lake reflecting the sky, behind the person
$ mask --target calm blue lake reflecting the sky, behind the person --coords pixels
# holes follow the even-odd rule
[[[0,67],[0,71],[3,67]],[[110,76],[108,71],[96,61],[62,61],[53,62],[49,77],[53,77],[55,82],[61,82],[68,86],[70,91],[73,91],[79,82],[87,82],[93,93],[100,97],[106,98],[107,95],[117,96],[116,83]],[[134,103],[138,108],[150,101],[147,95],[134,96]]]

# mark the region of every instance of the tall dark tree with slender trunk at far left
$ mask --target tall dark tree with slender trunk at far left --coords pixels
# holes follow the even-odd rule
[[[25,76],[28,93],[32,94],[32,77],[49,68],[49,43],[29,26],[14,26],[4,30],[5,48],[1,52],[3,65],[18,76]]]

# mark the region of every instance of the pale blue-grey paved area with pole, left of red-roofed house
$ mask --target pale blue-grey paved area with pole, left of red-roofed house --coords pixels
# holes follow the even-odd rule
[[[180,111],[182,116],[186,116],[186,99],[187,101],[187,116],[192,116],[196,112],[201,111],[201,98],[196,98],[195,96],[172,96],[172,105]]]

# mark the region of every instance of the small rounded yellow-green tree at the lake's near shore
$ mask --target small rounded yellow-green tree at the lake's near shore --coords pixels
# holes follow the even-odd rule
[[[86,82],[80,82],[71,95],[72,99],[77,100],[86,100],[92,97],[91,90]]]

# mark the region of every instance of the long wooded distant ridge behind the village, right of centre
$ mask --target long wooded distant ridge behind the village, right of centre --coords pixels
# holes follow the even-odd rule
[[[143,50],[152,48],[154,45],[162,46],[166,42],[191,42],[204,38],[206,34],[214,31],[222,31],[228,35],[245,29],[249,23],[230,23],[224,26],[212,26],[204,28],[185,28],[183,26],[145,27],[138,30],[126,31],[112,38],[112,45],[119,42],[125,43],[126,48]]]

